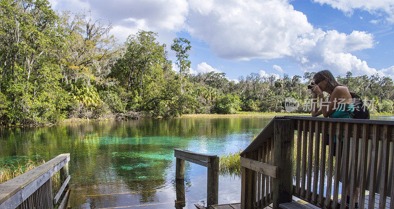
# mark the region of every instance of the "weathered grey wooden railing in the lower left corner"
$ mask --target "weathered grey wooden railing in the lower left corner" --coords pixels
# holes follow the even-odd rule
[[[63,199],[58,209],[65,209],[69,198],[67,189],[70,176],[70,154],[60,154],[32,170],[0,184],[0,209],[53,209]],[[60,172],[61,187],[54,196],[52,176]],[[67,189],[65,195],[64,190]]]

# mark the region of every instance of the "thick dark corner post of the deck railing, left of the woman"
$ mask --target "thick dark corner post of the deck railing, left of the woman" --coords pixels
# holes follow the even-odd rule
[[[273,165],[279,168],[278,178],[273,179],[273,209],[279,204],[292,202],[294,124],[291,119],[274,121]]]

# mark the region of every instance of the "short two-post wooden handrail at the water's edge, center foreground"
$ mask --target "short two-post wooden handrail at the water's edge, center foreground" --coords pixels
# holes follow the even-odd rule
[[[188,150],[183,150],[183,149],[174,149],[174,155],[176,157],[176,172],[175,172],[175,179],[177,180],[176,182],[176,187],[177,191],[182,191],[183,188],[183,195],[177,193],[177,200],[176,202],[182,202],[185,201],[185,186],[184,182],[183,185],[182,183],[179,182],[179,180],[185,179],[185,160],[196,163],[198,165],[202,165],[204,167],[207,167],[207,205],[216,205],[218,204],[219,201],[219,157],[217,155],[211,155],[211,154],[203,154],[203,153],[197,153],[193,151],[188,151]],[[182,199],[178,199],[178,197]],[[177,204],[175,204],[175,207],[177,207]]]

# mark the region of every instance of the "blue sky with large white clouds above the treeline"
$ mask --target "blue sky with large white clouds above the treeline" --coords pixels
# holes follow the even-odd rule
[[[91,10],[119,42],[139,29],[191,41],[191,72],[232,79],[330,69],[394,78],[393,0],[50,0],[57,10]]]

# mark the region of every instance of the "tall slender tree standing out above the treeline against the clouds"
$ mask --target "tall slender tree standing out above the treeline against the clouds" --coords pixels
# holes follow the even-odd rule
[[[171,49],[175,51],[177,61],[175,64],[179,67],[180,82],[181,82],[181,93],[183,93],[183,77],[184,74],[189,72],[190,60],[188,51],[192,48],[190,41],[185,38],[175,38],[174,43],[171,45]]]

